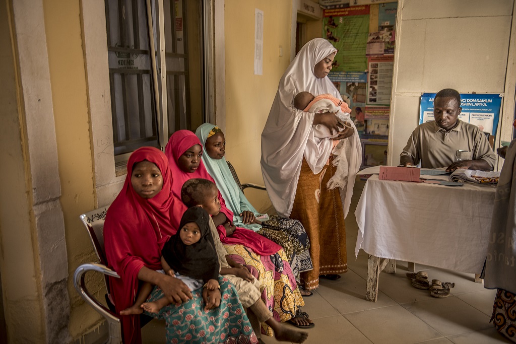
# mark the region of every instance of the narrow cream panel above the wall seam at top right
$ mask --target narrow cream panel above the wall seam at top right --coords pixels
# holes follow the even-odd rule
[[[510,15],[512,3],[513,0],[408,0],[404,2],[403,19]]]

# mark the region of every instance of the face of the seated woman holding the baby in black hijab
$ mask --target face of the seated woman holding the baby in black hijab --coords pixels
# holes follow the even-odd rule
[[[143,160],[134,165],[131,184],[141,198],[151,199],[163,189],[163,176],[155,163]]]

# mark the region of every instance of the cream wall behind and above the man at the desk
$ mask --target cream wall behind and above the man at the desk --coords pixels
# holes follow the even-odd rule
[[[398,165],[399,153],[418,124],[422,92],[506,92],[512,12],[513,0],[399,1],[389,165]],[[510,76],[503,126],[512,123],[514,81]],[[503,140],[510,136],[508,131],[503,135]]]

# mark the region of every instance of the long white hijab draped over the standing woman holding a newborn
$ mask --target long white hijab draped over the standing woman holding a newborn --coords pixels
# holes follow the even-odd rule
[[[303,112],[292,104],[296,94],[308,91],[314,95],[330,93],[342,99],[328,77],[319,79],[314,74],[315,65],[336,52],[325,39],[315,38],[305,44],[280,79],[276,97],[262,132],[262,174],[272,205],[282,217],[289,217],[294,205],[297,182],[307,141],[313,136],[313,112]],[[331,152],[331,142],[323,142],[319,156],[308,156],[307,162],[320,172]],[[326,147],[328,145],[328,147]],[[317,171],[319,169],[319,171]],[[354,182],[354,181],[353,181]],[[349,192],[341,193],[344,216],[351,203],[352,185]]]

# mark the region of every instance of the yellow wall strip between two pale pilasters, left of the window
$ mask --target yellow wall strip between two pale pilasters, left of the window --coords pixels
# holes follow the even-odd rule
[[[77,266],[97,260],[86,228],[79,220],[80,214],[95,208],[79,1],[47,0],[43,11],[56,123],[60,201],[68,249],[69,330],[76,338],[101,320],[79,297],[72,280]],[[99,300],[103,300],[100,274],[92,274],[88,280],[90,290],[98,291]]]

